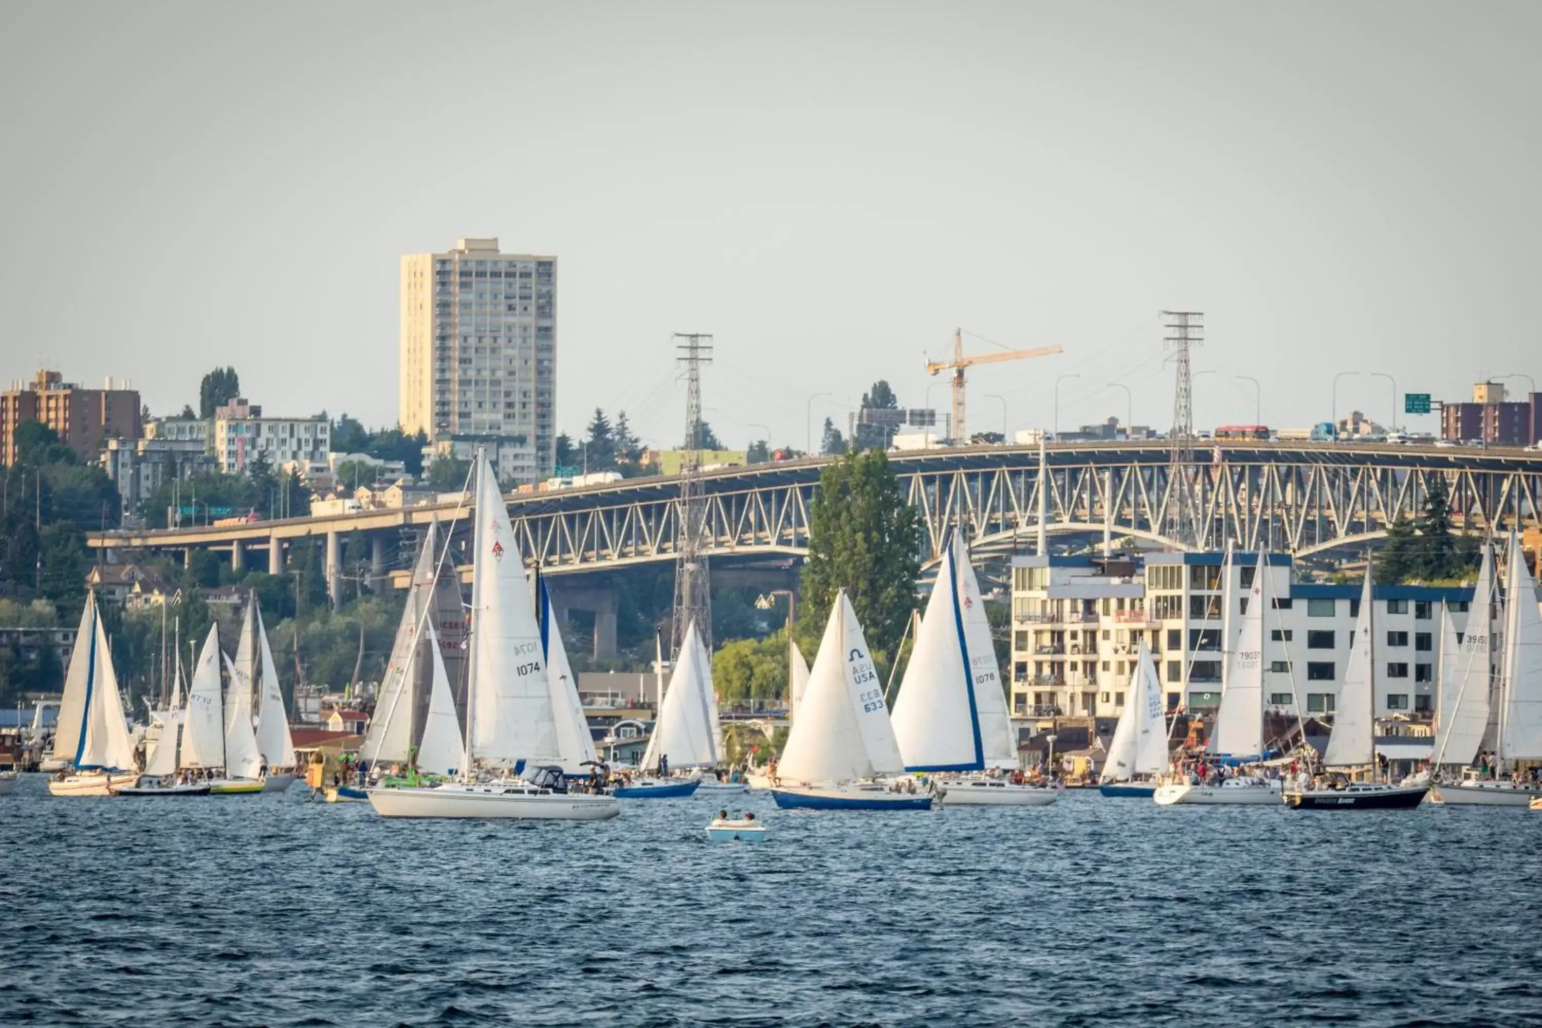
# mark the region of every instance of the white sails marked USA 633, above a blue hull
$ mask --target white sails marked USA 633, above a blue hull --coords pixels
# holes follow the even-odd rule
[[[842,590],[825,624],[777,774],[786,783],[837,784],[902,768],[884,706],[884,683]]]

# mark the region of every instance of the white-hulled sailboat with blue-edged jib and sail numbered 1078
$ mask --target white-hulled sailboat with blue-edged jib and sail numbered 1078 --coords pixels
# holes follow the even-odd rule
[[[905,771],[947,775],[944,806],[1044,806],[1058,795],[999,774],[1018,768],[1018,744],[961,532],[948,538],[890,721]]]

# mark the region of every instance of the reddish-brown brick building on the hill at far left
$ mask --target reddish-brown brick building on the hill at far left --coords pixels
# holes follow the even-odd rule
[[[39,371],[31,382],[12,382],[0,393],[0,464],[15,464],[15,430],[40,421],[82,461],[96,459],[106,439],[137,439],[142,430],[139,390],[80,388],[59,371]]]

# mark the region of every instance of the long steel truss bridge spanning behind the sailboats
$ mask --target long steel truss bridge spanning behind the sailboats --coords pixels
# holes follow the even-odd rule
[[[703,476],[702,536],[714,566],[783,566],[808,550],[810,507],[823,459],[725,469]],[[1397,518],[1416,516],[1431,482],[1443,478],[1463,530],[1537,527],[1542,455],[1473,447],[1223,442],[1201,450],[1190,490],[1170,473],[1167,447],[1061,444],[1042,456],[1027,447],[968,447],[894,453],[907,501],[922,515],[925,549],[936,556],[954,526],[982,555],[1002,555],[1045,536],[1146,539],[1186,549],[1164,532],[1180,495],[1194,496],[1201,549],[1227,539],[1240,549],[1311,556],[1365,546]],[[282,547],[325,536],[328,564],[339,538],[421,529],[432,519],[466,522],[452,504],[364,510],[332,518],[291,518],[241,526],[93,535],[91,546],[125,550],[267,549],[268,570]],[[509,513],[529,564],[571,575],[674,561],[680,532],[675,478],[515,493]],[[1059,539],[1061,543],[1075,543]],[[1192,547],[1187,547],[1192,549]],[[376,572],[381,547],[376,552]],[[274,563],[278,553],[278,563]],[[392,559],[390,566],[399,566]]]

